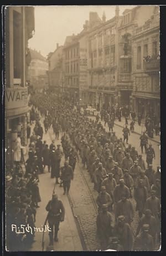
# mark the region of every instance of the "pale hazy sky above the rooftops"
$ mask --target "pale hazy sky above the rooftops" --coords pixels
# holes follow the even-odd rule
[[[120,15],[134,6],[120,6]],[[35,34],[29,40],[29,48],[36,49],[46,57],[54,52],[56,43],[63,45],[67,35],[78,34],[83,29],[89,12],[97,12],[106,21],[115,16],[116,6],[35,6]]]

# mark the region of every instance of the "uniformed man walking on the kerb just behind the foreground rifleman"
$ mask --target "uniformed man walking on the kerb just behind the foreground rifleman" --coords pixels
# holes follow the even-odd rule
[[[65,160],[64,166],[61,167],[61,180],[63,181],[64,194],[68,194],[71,180],[73,180],[73,171],[72,167],[69,165],[68,160]]]

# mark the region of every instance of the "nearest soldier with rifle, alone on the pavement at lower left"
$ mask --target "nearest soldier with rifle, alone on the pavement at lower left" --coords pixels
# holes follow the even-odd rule
[[[49,245],[53,245],[53,237],[54,241],[58,242],[59,224],[64,221],[65,208],[63,203],[58,199],[57,194],[53,194],[52,200],[48,202],[45,209],[48,211],[48,223],[51,229],[51,232],[49,232]]]

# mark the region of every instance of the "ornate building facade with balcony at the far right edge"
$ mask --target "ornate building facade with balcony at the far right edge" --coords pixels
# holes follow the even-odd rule
[[[149,7],[148,7],[149,8]],[[160,119],[159,7],[149,19],[134,30],[133,42],[133,108],[144,119]]]

